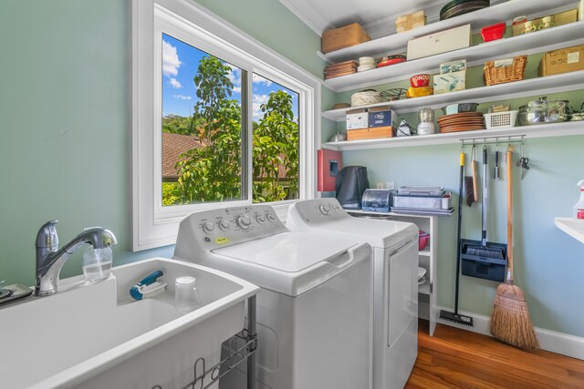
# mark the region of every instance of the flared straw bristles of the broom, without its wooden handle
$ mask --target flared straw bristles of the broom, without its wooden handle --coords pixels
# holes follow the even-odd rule
[[[539,348],[525,295],[512,282],[501,283],[496,288],[490,331],[495,338],[520,349]]]

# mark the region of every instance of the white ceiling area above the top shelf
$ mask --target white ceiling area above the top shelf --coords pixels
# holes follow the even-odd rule
[[[279,0],[319,36],[329,28],[359,23],[375,39],[395,32],[400,15],[423,10],[428,23],[438,20],[450,0]],[[491,5],[504,0],[491,0]]]

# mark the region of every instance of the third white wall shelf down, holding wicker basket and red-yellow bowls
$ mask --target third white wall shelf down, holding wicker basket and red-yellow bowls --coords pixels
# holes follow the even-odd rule
[[[324,118],[344,121],[347,111],[355,108],[390,106],[397,113],[413,112],[420,107],[441,108],[451,103],[473,102],[485,103],[510,98],[545,96],[548,93],[565,92],[584,88],[584,70],[563,73],[561,75],[524,79],[490,87],[474,87],[457,92],[443,93],[424,97],[407,98],[384,102],[370,106],[332,109],[322,113]]]

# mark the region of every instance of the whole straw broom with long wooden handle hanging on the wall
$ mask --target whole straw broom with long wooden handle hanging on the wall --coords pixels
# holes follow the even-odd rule
[[[507,276],[496,288],[490,331],[495,338],[524,350],[537,350],[539,343],[533,329],[527,302],[521,288],[513,284],[513,197],[511,159],[513,147],[506,151],[507,159]]]

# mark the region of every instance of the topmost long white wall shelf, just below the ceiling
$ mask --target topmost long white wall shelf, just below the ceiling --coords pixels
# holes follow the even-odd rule
[[[383,56],[392,53],[405,52],[408,41],[420,36],[427,36],[438,31],[443,31],[455,26],[470,24],[474,30],[494,25],[495,23],[507,22],[509,24],[513,15],[527,15],[533,18],[539,14],[554,14],[559,10],[574,8],[574,0],[530,0],[527,1],[507,1],[505,3],[492,5],[487,8],[459,15],[451,19],[438,21],[427,26],[405,31],[400,34],[382,36],[369,42],[357,46],[350,46],[340,50],[325,54],[324,58],[329,62],[340,62],[348,59],[356,59],[359,56]],[[554,8],[550,11],[551,7]]]

